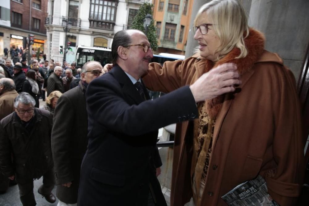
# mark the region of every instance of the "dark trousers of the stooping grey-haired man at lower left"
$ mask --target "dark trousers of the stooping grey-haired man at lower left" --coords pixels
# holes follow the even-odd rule
[[[19,197],[23,206],[34,206],[36,200],[33,194],[33,179],[24,179],[16,176],[19,187]],[[49,169],[43,174],[43,185],[40,186],[40,194],[48,195],[55,187],[54,169]]]

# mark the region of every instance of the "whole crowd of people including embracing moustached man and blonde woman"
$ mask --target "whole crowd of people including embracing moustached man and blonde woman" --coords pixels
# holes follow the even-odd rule
[[[139,30],[115,34],[104,68],[2,60],[0,189],[15,179],[22,204],[35,205],[43,176],[38,193],[53,203],[56,184],[59,206],[167,205],[157,131],[177,123],[172,206],[225,206],[223,195],[258,175],[272,205],[296,205],[305,161],[293,74],[237,0],[203,5],[194,29],[198,51],[163,65],[149,64]],[[146,88],[167,94],[151,100]]]

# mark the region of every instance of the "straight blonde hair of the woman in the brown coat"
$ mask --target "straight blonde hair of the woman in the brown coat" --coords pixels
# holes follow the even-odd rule
[[[218,53],[218,58],[222,58],[229,53],[234,47],[240,49],[240,54],[236,58],[246,57],[248,51],[246,49],[244,39],[249,35],[248,17],[243,6],[238,0],[213,0],[204,4],[198,11],[194,25],[197,19],[203,13],[212,23],[211,29],[221,41],[220,46],[214,53]]]

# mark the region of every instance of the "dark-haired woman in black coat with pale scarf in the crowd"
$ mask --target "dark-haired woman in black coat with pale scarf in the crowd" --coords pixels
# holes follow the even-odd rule
[[[36,72],[30,69],[26,74],[26,80],[23,82],[23,92],[29,93],[36,101],[35,107],[39,108],[40,88],[36,82]]]

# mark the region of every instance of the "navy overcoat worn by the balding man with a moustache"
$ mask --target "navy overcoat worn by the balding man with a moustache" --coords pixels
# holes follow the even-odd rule
[[[155,178],[149,158],[158,128],[197,117],[189,87],[143,101],[116,65],[89,84],[86,100],[89,141],[78,205],[147,205],[149,182]]]

